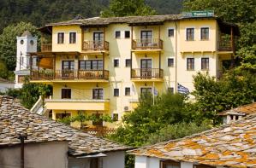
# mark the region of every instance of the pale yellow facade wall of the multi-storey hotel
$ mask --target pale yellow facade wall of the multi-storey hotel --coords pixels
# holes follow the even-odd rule
[[[194,28],[194,40],[186,40],[186,28]],[[200,39],[200,28],[209,27],[209,40]],[[168,36],[168,30],[174,29],[174,36]],[[71,98],[74,100],[92,99],[93,88],[104,88],[104,99],[109,100],[109,109],[104,113],[118,113],[118,119],[122,115],[132,111],[138,103],[141,88],[152,88],[158,94],[164,93],[168,88],[173,88],[176,92],[177,84],[182,84],[188,90],[193,91],[193,76],[197,72],[209,73],[217,77],[218,72],[222,70],[222,60],[229,58],[229,54],[219,55],[217,53],[218,41],[217,20],[178,20],[166,21],[161,26],[134,26],[130,37],[140,38],[140,32],[143,30],[152,30],[153,38],[160,38],[164,41],[164,49],[154,50],[145,49],[136,51],[132,49],[131,38],[125,38],[124,32],[131,31],[132,27],[128,24],[111,24],[105,28],[89,28],[83,33],[80,26],[53,26],[52,29],[52,50],[53,51],[78,51],[80,55],[64,53],[56,57],[56,70],[62,70],[63,61],[74,61],[74,69],[79,68],[79,60],[103,60],[101,51],[81,50],[81,40],[92,41],[93,32],[105,32],[104,40],[109,42],[109,51],[104,52],[104,69],[110,72],[109,81],[105,83],[100,80],[90,80],[79,82],[78,80],[63,80],[63,82],[53,82],[53,99],[61,99],[61,89],[72,89]],[[121,32],[121,38],[115,37],[115,32]],[[63,44],[57,43],[57,32],[64,32],[65,38]],[[69,32],[77,32],[77,42],[69,43]],[[83,34],[83,38],[81,38]],[[141,59],[152,59],[152,68],[161,68],[164,70],[163,80],[141,80],[134,81],[131,77],[131,67],[125,66],[125,61],[132,58],[132,68],[140,68]],[[160,61],[159,61],[160,58]],[[174,66],[168,67],[168,58],[174,59]],[[194,58],[194,70],[187,70],[187,59]],[[201,69],[201,59],[209,58],[209,69]],[[119,60],[119,67],[114,67],[114,60]],[[130,96],[125,96],[125,88],[130,88]],[[114,96],[114,89],[119,89],[119,96]],[[76,106],[77,104],[74,104]],[[56,107],[62,107],[60,103]],[[80,105],[79,105],[80,106]],[[91,105],[90,105],[91,106]],[[72,106],[73,107],[73,106]],[[63,113],[63,110],[54,109],[53,113]],[[125,110],[126,109],[126,110]],[[67,109],[68,110],[68,109]],[[69,110],[74,110],[69,109]],[[80,110],[80,107],[77,107]],[[95,110],[97,111],[97,110]],[[98,111],[102,111],[98,108]],[[74,111],[72,113],[77,113]],[[87,113],[93,113],[87,111]],[[55,114],[53,114],[55,116]]]

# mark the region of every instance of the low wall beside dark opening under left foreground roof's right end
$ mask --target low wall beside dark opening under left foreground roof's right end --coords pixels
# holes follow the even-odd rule
[[[69,158],[68,168],[90,168],[92,158]],[[124,152],[110,152],[106,157],[99,158],[101,168],[124,168]]]

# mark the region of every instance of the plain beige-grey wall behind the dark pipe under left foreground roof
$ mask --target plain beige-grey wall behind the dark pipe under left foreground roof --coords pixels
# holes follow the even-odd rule
[[[19,146],[0,149],[0,167],[20,167]],[[68,142],[42,142],[25,145],[25,167],[68,168]]]

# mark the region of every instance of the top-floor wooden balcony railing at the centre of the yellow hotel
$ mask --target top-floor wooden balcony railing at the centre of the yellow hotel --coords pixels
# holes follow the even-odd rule
[[[134,39],[132,48],[133,49],[163,49],[163,40],[158,38]]]

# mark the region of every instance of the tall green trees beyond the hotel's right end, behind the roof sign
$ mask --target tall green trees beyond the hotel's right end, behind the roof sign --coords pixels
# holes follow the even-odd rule
[[[256,72],[255,7],[255,0],[185,0],[183,2],[185,11],[211,9],[224,21],[239,26],[241,37],[235,43],[238,51],[236,57],[242,61],[241,69],[247,69],[251,72]]]

